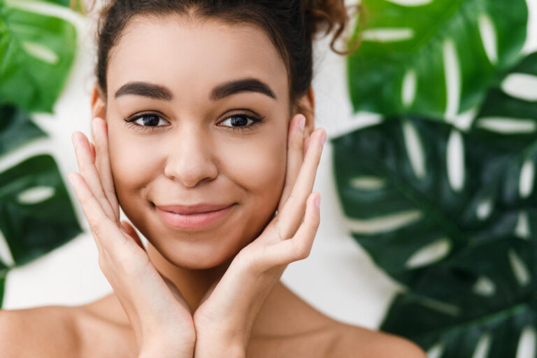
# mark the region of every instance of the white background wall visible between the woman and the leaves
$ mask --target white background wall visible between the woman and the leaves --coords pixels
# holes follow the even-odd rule
[[[12,1],[15,4],[15,1]],[[529,38],[524,52],[536,46],[536,0],[528,0],[531,9]],[[25,1],[16,0],[17,6]],[[33,6],[35,8],[35,6]],[[94,24],[67,10],[50,6],[39,8],[75,22],[79,50],[65,90],[55,106],[55,115],[34,115],[34,120],[48,131],[50,138],[32,143],[0,160],[6,169],[31,154],[50,152],[66,178],[76,171],[71,133],[90,134],[90,90],[94,81]],[[316,45],[315,78],[317,127],[327,130],[329,138],[377,120],[377,116],[352,115],[346,90],[345,60],[329,51],[328,41]],[[331,161],[331,142],[323,151],[314,190],[321,193],[320,228],[310,257],[287,268],[282,281],[296,294],[323,313],[351,324],[377,328],[398,286],[371,262],[345,229],[343,211],[336,196]],[[87,224],[76,196],[67,185],[78,217]],[[10,255],[0,238],[0,258]],[[15,268],[8,273],[3,308],[27,308],[43,305],[78,305],[99,299],[111,287],[99,269],[97,250],[90,234],[82,234],[49,255]]]

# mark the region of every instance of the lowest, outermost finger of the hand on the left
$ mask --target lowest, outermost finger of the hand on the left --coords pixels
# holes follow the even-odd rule
[[[110,245],[114,245],[114,240],[110,238],[123,237],[123,235],[120,233],[115,222],[105,213],[101,203],[99,203],[99,200],[96,199],[92,190],[87,185],[85,178],[76,172],[69,173],[67,178],[69,178],[69,182],[73,185],[78,201],[82,205],[97,248],[99,248],[99,252],[102,252],[102,248],[109,248]]]

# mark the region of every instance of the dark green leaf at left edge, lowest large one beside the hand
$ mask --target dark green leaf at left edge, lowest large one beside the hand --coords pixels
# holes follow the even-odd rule
[[[80,234],[76,214],[50,155],[0,173],[0,230],[16,266]]]

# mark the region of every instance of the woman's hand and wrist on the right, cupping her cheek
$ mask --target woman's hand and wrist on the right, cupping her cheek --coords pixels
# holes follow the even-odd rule
[[[324,129],[308,137],[296,115],[287,140],[287,171],[278,214],[245,246],[194,312],[195,357],[245,357],[252,326],[266,297],[291,262],[308,257],[320,222],[312,192]]]

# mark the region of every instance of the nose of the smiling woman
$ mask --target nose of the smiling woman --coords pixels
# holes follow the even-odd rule
[[[181,182],[185,187],[195,187],[203,180],[213,180],[218,175],[215,148],[208,135],[199,127],[182,127],[171,138],[164,167],[166,178]]]

